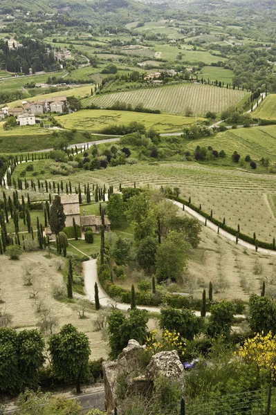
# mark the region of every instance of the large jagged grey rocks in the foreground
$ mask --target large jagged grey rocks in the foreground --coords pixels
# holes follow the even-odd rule
[[[179,379],[183,376],[183,365],[177,351],[161,351],[151,357],[149,365],[141,362],[145,345],[140,346],[136,340],[129,343],[117,360],[103,362],[104,391],[107,412],[120,407],[122,400],[131,394],[150,396],[154,381],[160,376]]]

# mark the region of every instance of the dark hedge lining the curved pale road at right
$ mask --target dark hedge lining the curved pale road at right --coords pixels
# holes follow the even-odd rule
[[[176,196],[173,196],[173,195],[169,195],[168,197],[169,197],[169,199],[172,199],[174,201],[182,203],[183,205],[188,206],[189,208],[194,210],[194,212],[197,212],[197,213],[201,214],[201,216],[204,216],[205,219],[208,219],[208,221],[214,223],[214,225],[217,225],[219,228],[221,228],[223,230],[226,230],[226,232],[232,234],[234,237],[238,237],[242,241],[251,243],[251,245],[255,245],[255,246],[257,245],[260,248],[275,250],[275,244],[274,243],[259,241],[258,239],[254,239],[254,238],[250,237],[249,235],[238,232],[237,229],[231,228],[230,226],[223,224],[223,222],[219,221],[218,219],[214,219],[210,214],[208,214],[208,213],[204,212],[203,210],[199,209],[197,206],[193,205],[189,201],[185,201],[185,199],[182,199],[181,197],[176,197]]]

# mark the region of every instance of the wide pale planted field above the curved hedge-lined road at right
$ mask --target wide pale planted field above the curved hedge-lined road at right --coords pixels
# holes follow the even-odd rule
[[[18,173],[21,166],[17,167]],[[37,176],[38,177],[38,176]],[[56,181],[64,180],[55,176]],[[132,166],[108,167],[93,172],[84,170],[70,176],[72,185],[98,183],[113,185],[118,190],[124,186],[150,185],[154,187],[179,187],[181,196],[192,198],[201,204],[205,212],[213,210],[213,216],[233,228],[238,223],[241,232],[256,232],[257,238],[271,242],[276,237],[276,219],[268,203],[276,194],[276,176],[246,172],[239,168],[223,169],[197,163],[139,163]]]

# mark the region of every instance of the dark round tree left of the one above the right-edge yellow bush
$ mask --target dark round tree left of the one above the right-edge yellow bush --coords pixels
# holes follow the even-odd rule
[[[219,304],[214,304],[210,309],[211,315],[209,319],[208,333],[214,337],[223,335],[229,337],[231,326],[234,321],[234,306],[226,300]]]

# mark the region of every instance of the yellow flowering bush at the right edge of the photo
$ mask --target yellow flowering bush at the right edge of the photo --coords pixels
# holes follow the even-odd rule
[[[239,356],[248,362],[253,362],[259,369],[269,369],[272,378],[276,374],[276,335],[271,331],[257,333],[255,338],[247,339],[239,349]]]

